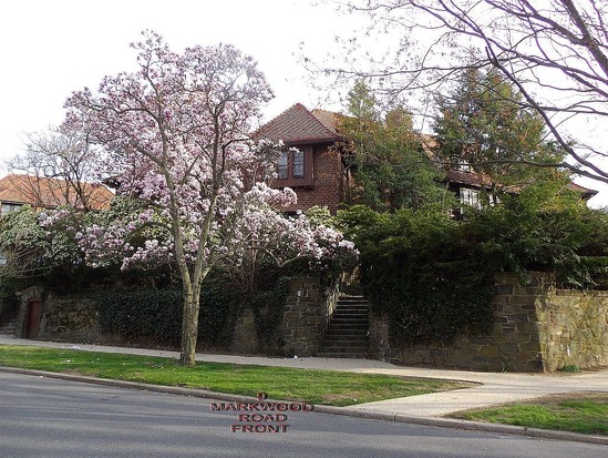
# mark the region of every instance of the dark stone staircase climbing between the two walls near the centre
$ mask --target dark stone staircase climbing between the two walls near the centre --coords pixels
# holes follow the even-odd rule
[[[322,358],[365,358],[370,305],[363,296],[341,296],[317,356]]]

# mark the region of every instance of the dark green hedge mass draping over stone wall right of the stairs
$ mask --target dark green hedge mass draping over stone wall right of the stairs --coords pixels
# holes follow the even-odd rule
[[[569,287],[606,283],[608,216],[579,202],[504,204],[456,221],[435,208],[380,214],[341,212],[361,252],[361,282],[373,307],[389,315],[393,338],[449,343],[492,329],[494,276],[555,273]]]

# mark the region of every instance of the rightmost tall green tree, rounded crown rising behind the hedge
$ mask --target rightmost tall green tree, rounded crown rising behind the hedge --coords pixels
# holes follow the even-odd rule
[[[542,116],[524,106],[516,86],[498,71],[465,70],[460,84],[436,101],[437,157],[474,172],[487,186],[488,201],[539,181],[567,183],[568,176],[553,167],[566,152],[546,140]]]

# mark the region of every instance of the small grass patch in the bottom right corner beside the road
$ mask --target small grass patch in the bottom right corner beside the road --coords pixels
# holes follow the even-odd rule
[[[554,395],[451,417],[608,436],[608,393]]]

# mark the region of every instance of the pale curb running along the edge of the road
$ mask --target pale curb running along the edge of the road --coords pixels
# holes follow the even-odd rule
[[[131,388],[131,389],[144,390],[144,391],[165,393],[171,395],[181,395],[181,396],[189,396],[189,397],[197,397],[197,398],[213,398],[213,399],[219,399],[219,400],[225,400],[229,403],[259,403],[259,400],[256,397],[229,395],[225,393],[209,391],[206,389],[194,389],[194,388],[185,388],[185,387],[164,386],[164,385],[150,385],[150,384],[142,384],[136,381],[114,380],[110,378],[96,378],[96,377],[87,377],[87,376],[80,376],[80,375],[73,375],[73,374],[50,373],[47,370],[22,369],[18,367],[0,366],[0,370],[6,373],[58,378],[63,380],[81,381],[81,383],[87,383],[87,384],[94,384],[94,385],[112,386],[117,388]],[[458,420],[458,419],[452,419],[452,418],[413,417],[413,416],[406,416],[406,415],[383,414],[383,413],[374,413],[374,411],[369,411],[363,409],[357,409],[357,407],[344,408],[344,407],[331,407],[331,406],[315,406],[315,411],[318,411],[320,414],[342,415],[348,417],[367,418],[367,419],[373,419],[373,420],[398,421],[398,423],[406,423],[406,424],[421,425],[421,426],[434,426],[434,427],[441,427],[441,428],[454,428],[454,429],[464,429],[464,430],[473,430],[473,431],[507,434],[507,435],[527,436],[527,437],[543,438],[543,439],[568,440],[568,441],[576,441],[576,442],[587,442],[587,444],[597,444],[597,445],[608,446],[608,437],[589,436],[589,435],[581,435],[581,434],[568,432],[568,431],[553,431],[548,429],[538,429],[538,428],[526,428],[522,426],[497,425],[497,424],[491,424],[491,423]]]

